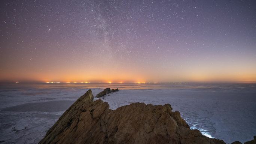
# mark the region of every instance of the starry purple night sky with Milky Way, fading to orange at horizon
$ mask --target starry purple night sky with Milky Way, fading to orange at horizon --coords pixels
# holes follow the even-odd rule
[[[2,82],[256,82],[255,0],[0,3]]]

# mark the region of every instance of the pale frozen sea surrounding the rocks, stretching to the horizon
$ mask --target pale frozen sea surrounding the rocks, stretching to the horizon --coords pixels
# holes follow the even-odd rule
[[[1,83],[0,144],[38,143],[77,98],[104,88],[120,89],[102,98],[111,109],[169,103],[207,137],[243,143],[256,135],[256,84]]]

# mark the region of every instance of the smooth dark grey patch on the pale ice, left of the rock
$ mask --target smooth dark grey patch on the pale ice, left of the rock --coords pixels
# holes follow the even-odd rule
[[[48,102],[35,102],[15,105],[13,107],[2,108],[2,111],[42,111],[42,112],[58,112],[67,110],[74,101],[48,101]]]

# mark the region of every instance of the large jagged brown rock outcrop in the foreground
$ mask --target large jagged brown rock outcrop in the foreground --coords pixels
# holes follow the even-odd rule
[[[82,95],[39,144],[225,144],[191,130],[170,104],[134,103],[110,110],[92,91]]]

